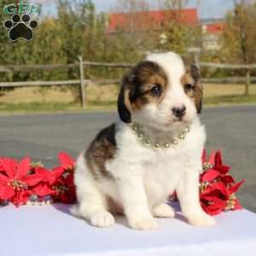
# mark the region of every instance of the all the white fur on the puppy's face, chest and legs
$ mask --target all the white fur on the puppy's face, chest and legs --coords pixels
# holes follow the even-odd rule
[[[79,205],[73,212],[96,226],[109,226],[114,223],[106,202],[106,195],[109,195],[124,207],[132,228],[151,230],[157,228],[154,217],[174,217],[174,211],[164,202],[176,190],[190,224],[212,225],[214,218],[201,209],[199,201],[201,153],[206,133],[196,116],[194,102],[181,86],[183,61],[174,53],[149,55],[147,60],[157,62],[165,70],[170,90],[159,106],[148,104],[133,114],[132,119],[143,123],[150,137],[160,142],[177,136],[188,123],[191,123],[190,131],[176,146],[154,150],[137,140],[130,125],[117,121],[116,154],[106,163],[114,181],[100,178],[96,182],[81,154],[75,171]],[[183,122],[177,122],[171,109],[182,104],[187,108],[186,115]]]

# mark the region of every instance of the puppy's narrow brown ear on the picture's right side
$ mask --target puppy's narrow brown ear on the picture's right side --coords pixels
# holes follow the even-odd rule
[[[195,80],[195,108],[197,109],[197,113],[201,113],[203,86],[201,84],[201,75],[199,68],[195,65],[195,63],[191,64],[190,72],[192,78]]]

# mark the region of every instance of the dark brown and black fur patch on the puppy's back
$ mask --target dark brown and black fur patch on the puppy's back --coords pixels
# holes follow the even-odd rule
[[[105,163],[114,157],[115,152],[115,125],[112,124],[98,133],[85,152],[87,165],[94,177],[113,178],[106,170]]]

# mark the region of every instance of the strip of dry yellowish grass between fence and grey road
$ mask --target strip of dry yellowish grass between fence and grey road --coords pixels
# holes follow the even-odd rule
[[[207,106],[256,104],[256,85],[251,86],[249,96],[243,96],[243,84],[205,84],[204,87],[204,105]],[[0,113],[111,110],[116,109],[118,90],[116,85],[87,88],[88,102],[83,109],[79,103],[73,103],[74,96],[70,90],[50,88],[42,96],[38,88],[20,88],[0,96]]]

